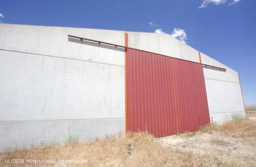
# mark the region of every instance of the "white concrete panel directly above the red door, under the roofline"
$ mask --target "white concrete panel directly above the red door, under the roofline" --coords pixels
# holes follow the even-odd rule
[[[128,32],[128,46],[180,58],[179,43],[168,34]]]

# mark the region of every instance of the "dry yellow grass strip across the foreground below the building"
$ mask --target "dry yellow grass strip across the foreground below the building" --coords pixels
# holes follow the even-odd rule
[[[128,146],[133,147],[128,150]],[[239,166],[235,161],[223,161],[210,155],[192,154],[162,147],[155,138],[145,133],[128,134],[127,137],[106,137],[87,143],[53,145],[32,150],[6,151],[0,154],[0,163],[5,159],[75,159],[88,160],[87,166]],[[20,164],[19,164],[20,165]],[[22,164],[24,166],[27,163]],[[38,165],[38,164],[37,164]],[[43,164],[58,166],[61,164]],[[66,164],[67,165],[67,164]],[[73,164],[74,165],[74,164]],[[83,166],[84,164],[78,164]]]

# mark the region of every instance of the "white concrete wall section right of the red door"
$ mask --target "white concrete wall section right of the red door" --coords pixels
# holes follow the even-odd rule
[[[223,123],[233,115],[245,117],[243,96],[238,73],[201,53],[202,63],[226,68],[226,72],[204,67],[210,120]]]

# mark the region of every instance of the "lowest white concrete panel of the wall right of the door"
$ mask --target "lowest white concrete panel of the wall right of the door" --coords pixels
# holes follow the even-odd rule
[[[233,116],[245,117],[245,112],[233,112],[233,113],[210,113],[211,123],[222,124],[228,120],[232,120]]]

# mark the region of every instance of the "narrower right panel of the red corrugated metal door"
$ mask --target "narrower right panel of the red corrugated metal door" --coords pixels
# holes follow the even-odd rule
[[[179,132],[196,131],[209,123],[202,65],[174,59]]]

